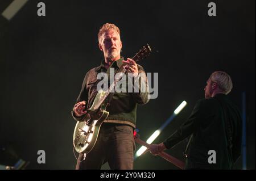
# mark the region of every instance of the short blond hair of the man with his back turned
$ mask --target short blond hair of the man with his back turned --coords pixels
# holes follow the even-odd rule
[[[214,71],[212,75],[210,75],[210,81],[216,82],[218,87],[225,92],[225,94],[229,94],[229,92],[233,88],[232,79],[229,74],[224,71]]]

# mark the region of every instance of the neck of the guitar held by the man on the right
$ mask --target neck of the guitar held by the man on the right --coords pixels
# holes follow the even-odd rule
[[[135,142],[137,142],[140,145],[146,146],[147,148],[150,146],[150,144],[147,144],[147,142],[144,142],[139,138],[135,138]],[[175,157],[172,157],[170,154],[167,154],[164,151],[162,151],[161,153],[159,153],[159,156],[166,159],[168,162],[171,162],[176,167],[179,167],[180,169],[184,169],[185,163]]]

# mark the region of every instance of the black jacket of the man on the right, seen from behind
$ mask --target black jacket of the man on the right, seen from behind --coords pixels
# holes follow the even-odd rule
[[[227,136],[226,121],[230,121],[230,136]],[[197,102],[188,120],[172,134],[164,145],[172,148],[193,134],[187,169],[232,169],[241,154],[242,119],[238,108],[227,95]],[[232,137],[232,144],[228,140]],[[216,163],[209,163],[209,150],[216,151]]]

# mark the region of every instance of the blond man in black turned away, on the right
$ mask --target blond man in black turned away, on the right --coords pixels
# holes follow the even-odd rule
[[[240,111],[229,100],[233,84],[224,71],[215,71],[205,86],[205,99],[197,102],[187,121],[160,144],[146,150],[158,155],[191,136],[185,169],[232,169],[241,154]],[[146,153],[145,152],[145,153]]]

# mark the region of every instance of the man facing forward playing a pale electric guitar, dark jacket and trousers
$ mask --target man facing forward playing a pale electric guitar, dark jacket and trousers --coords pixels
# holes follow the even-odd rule
[[[81,92],[72,110],[72,116],[76,121],[81,121],[86,114],[85,108],[92,106],[98,93],[97,79],[99,73],[110,74],[110,68],[114,72],[125,63],[127,72],[144,74],[142,66],[136,64],[131,58],[125,61],[121,57],[122,41],[120,31],[114,24],[106,23],[98,32],[98,46],[104,53],[104,61],[100,66],[90,69],[82,83]],[[144,74],[146,76],[146,74]],[[109,76],[108,76],[109,77]],[[136,124],[137,104],[148,102],[148,89],[139,92],[115,92],[106,111],[109,116],[101,125],[100,133],[93,149],[81,161],[83,154],[79,155],[76,169],[101,169],[108,162],[110,169],[133,169],[135,142],[133,130]],[[88,100],[85,106],[85,101]]]

